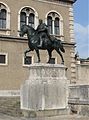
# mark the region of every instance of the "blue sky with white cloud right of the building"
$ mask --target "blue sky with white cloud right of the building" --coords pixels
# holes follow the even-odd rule
[[[74,31],[76,52],[86,59],[89,57],[89,0],[74,3]]]

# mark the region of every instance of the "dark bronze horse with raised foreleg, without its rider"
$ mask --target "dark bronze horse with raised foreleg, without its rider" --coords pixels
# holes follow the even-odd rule
[[[64,64],[64,59],[63,59],[63,56],[62,56],[60,50],[62,52],[65,52],[65,49],[63,48],[63,44],[62,44],[61,40],[57,40],[55,37],[50,37],[51,40],[49,40],[48,36],[44,32],[44,35],[43,35],[43,45],[40,48],[40,47],[38,47],[38,44],[39,44],[39,39],[40,39],[39,36],[40,36],[41,33],[38,34],[37,30],[35,30],[31,26],[23,25],[21,27],[21,31],[20,31],[19,35],[21,37],[23,37],[25,34],[27,34],[28,46],[29,46],[29,49],[24,52],[25,57],[26,57],[26,54],[28,52],[35,50],[36,54],[37,54],[37,57],[38,57],[38,62],[40,62],[39,49],[41,49],[41,50],[47,50],[48,51],[48,55],[49,55],[48,63],[50,63],[50,60],[52,58],[52,51],[56,50],[56,52],[61,57],[62,64]]]

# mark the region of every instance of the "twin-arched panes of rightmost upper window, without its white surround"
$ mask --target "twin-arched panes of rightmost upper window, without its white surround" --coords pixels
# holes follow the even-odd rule
[[[60,35],[60,16],[56,12],[50,12],[47,16],[47,25],[50,34]]]

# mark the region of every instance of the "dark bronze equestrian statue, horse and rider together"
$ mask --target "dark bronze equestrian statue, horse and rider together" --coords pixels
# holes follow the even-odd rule
[[[48,32],[48,26],[45,23],[43,23],[42,20],[39,21],[39,25],[36,30],[29,25],[22,25],[19,35],[20,37],[23,37],[25,34],[27,34],[28,47],[29,47],[29,49],[27,49],[24,52],[25,58],[28,52],[35,50],[38,57],[38,63],[39,63],[40,62],[39,50],[40,49],[47,50],[49,55],[49,60],[47,63],[50,63],[50,60],[52,58],[52,51],[56,50],[56,52],[61,57],[62,64],[64,64],[64,59],[61,54],[61,51],[63,53],[65,52],[63,43],[61,40],[57,39],[56,37],[50,36]]]

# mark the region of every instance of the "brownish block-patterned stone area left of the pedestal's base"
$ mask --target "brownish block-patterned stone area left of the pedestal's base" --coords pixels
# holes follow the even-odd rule
[[[20,98],[0,97],[0,113],[15,117],[23,116],[20,109]]]

